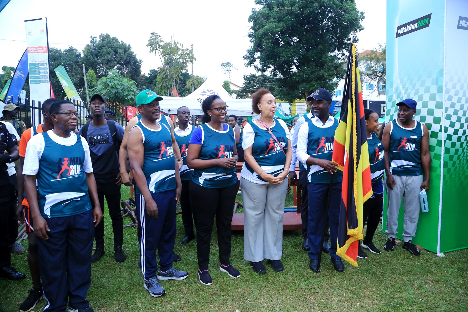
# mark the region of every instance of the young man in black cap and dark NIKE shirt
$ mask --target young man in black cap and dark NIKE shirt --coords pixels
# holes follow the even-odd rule
[[[122,182],[117,151],[124,137],[124,128],[119,123],[104,119],[106,101],[100,94],[91,97],[89,109],[93,114],[93,121],[80,128],[80,135],[86,138],[89,144],[102,215],[104,215],[104,196],[106,197],[112,219],[116,261],[123,262],[126,256],[122,249],[124,220],[120,212]],[[92,262],[98,261],[104,254],[104,222],[96,226],[94,238],[96,250],[91,257]]]

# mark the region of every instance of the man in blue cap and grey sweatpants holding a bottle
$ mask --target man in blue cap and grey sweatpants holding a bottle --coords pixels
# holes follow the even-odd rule
[[[399,106],[397,118],[385,126],[382,136],[388,199],[385,231],[388,240],[383,248],[386,251],[395,249],[398,213],[404,196],[403,248],[418,256],[420,252],[413,244],[413,238],[419,219],[418,193],[421,189],[429,190],[429,131],[424,124],[413,119],[416,114],[416,101],[406,99],[396,105]]]

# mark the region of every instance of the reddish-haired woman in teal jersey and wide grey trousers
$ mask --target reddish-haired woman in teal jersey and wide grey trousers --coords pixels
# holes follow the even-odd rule
[[[285,269],[280,259],[291,135],[284,121],[273,118],[276,99],[267,89],[252,94],[252,110],[260,114],[260,119],[244,127],[244,259],[251,261],[255,273],[265,274],[264,259],[274,271]]]

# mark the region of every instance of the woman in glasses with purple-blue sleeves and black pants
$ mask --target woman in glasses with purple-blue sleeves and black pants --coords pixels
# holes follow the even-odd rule
[[[203,124],[189,141],[187,166],[193,168],[189,184],[190,206],[197,229],[198,276],[200,283],[211,285],[208,273],[213,221],[216,218],[219,269],[230,277],[241,276],[230,262],[231,221],[239,181],[236,174],[237,151],[234,129],[226,122],[228,107],[218,95],[202,103]]]

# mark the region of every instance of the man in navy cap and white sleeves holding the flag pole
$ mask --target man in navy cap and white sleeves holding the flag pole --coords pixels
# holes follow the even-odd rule
[[[312,102],[312,118],[300,127],[297,138],[297,159],[307,164],[307,191],[309,194],[307,237],[309,240],[309,267],[313,271],[320,269],[319,256],[323,246],[323,227],[328,210],[331,246],[331,262],[338,272],[344,271],[344,264],[336,254],[336,233],[342,174],[332,161],[333,141],[338,120],[330,116],[331,94],[328,90],[318,88],[307,97]],[[331,188],[330,188],[331,183]],[[329,200],[328,200],[329,196]],[[329,202],[329,207],[327,207]]]

